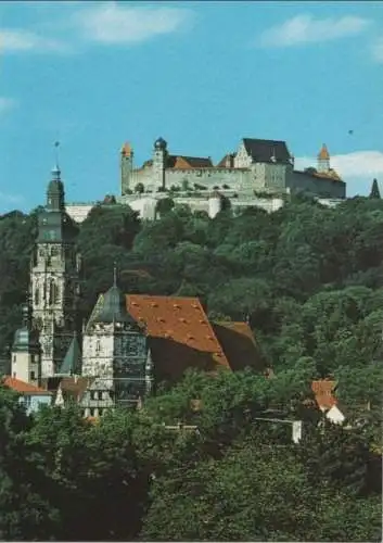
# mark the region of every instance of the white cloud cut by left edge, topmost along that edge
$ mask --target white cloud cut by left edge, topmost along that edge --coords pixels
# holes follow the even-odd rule
[[[29,30],[0,28],[0,54],[8,52],[66,52],[63,41],[46,38]]]

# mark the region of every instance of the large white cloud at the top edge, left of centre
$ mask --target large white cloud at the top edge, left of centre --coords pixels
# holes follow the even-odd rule
[[[85,38],[102,43],[137,43],[154,36],[170,34],[190,22],[186,9],[129,7],[105,2],[75,14]]]

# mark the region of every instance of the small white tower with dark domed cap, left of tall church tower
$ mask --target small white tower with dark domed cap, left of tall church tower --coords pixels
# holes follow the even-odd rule
[[[23,327],[16,330],[12,345],[11,376],[36,387],[41,377],[41,348],[31,327],[29,303],[23,305]]]

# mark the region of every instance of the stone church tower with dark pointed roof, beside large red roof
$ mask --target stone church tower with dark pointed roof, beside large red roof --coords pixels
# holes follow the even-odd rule
[[[115,403],[135,405],[152,386],[152,363],[144,328],[127,311],[125,294],[113,286],[99,298],[82,343],[82,376],[95,377]]]

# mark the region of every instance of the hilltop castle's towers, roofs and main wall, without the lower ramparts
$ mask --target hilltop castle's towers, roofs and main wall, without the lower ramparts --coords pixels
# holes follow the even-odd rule
[[[120,152],[120,193],[174,190],[233,190],[239,194],[304,191],[318,198],[343,199],[346,184],[330,167],[323,144],[317,168],[294,169],[294,157],[285,141],[243,138],[237,152],[226,154],[214,165],[212,159],[170,154],[167,142],[158,138],[153,155],[135,167],[133,150],[125,143]]]

